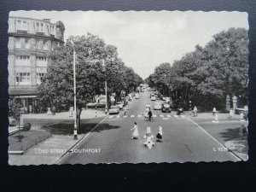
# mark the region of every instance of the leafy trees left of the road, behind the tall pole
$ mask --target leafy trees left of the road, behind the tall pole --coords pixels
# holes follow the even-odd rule
[[[94,96],[105,93],[105,81],[108,83],[108,102],[110,94],[115,93],[115,99],[119,100],[122,90],[129,93],[143,83],[131,67],[125,67],[115,46],[105,44],[102,38],[90,33],[71,36],[51,55],[48,73],[38,87],[38,98],[44,106],[73,106],[74,49],[78,119],[82,108],[92,102]]]

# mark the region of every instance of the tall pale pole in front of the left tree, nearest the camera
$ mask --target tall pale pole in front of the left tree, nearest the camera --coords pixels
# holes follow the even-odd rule
[[[73,49],[73,106],[74,106],[74,125],[73,138],[78,139],[77,130],[77,93],[76,93],[76,50]]]

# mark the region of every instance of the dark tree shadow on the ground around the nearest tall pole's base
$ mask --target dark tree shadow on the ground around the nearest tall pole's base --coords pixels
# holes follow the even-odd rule
[[[87,123],[81,124],[79,129],[79,134],[84,134],[90,132],[97,123]],[[112,129],[119,129],[120,126],[117,125],[109,125],[109,124],[100,124],[96,127],[93,132],[101,132]],[[42,129],[49,131],[53,135],[72,135],[73,134],[73,124],[48,124],[42,126]]]

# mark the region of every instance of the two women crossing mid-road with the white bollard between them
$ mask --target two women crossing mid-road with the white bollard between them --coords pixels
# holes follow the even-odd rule
[[[139,135],[139,132],[138,132],[137,122],[134,122],[134,126],[133,126],[133,128],[131,128],[131,130],[134,130],[131,135],[132,139],[140,139],[141,138]],[[143,143],[146,147],[148,147],[148,148],[154,147],[154,142],[152,141],[154,136],[151,134],[150,127],[147,127],[147,132],[143,138],[147,139],[146,142]],[[160,125],[159,125],[159,131],[156,135],[156,141],[163,142],[163,128]]]

